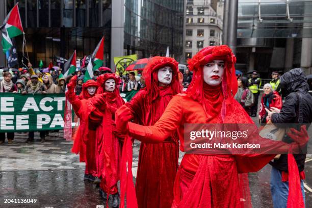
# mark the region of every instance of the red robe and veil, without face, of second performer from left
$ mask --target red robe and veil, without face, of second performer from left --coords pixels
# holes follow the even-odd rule
[[[105,91],[105,82],[115,80],[116,86],[113,92]],[[96,110],[95,115],[100,115],[101,124],[96,128],[97,165],[98,177],[102,177],[100,188],[108,195],[118,192],[117,181],[120,178],[120,143],[121,137],[116,131],[114,122],[115,111],[123,105],[124,101],[119,94],[119,76],[113,73],[102,74],[97,77],[99,88],[97,94],[106,93],[106,105]],[[94,116],[91,114],[91,117]],[[93,119],[93,120],[96,120]]]

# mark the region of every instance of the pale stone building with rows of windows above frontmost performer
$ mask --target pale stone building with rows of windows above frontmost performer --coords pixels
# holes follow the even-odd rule
[[[209,45],[222,44],[223,1],[186,0],[185,60]]]

